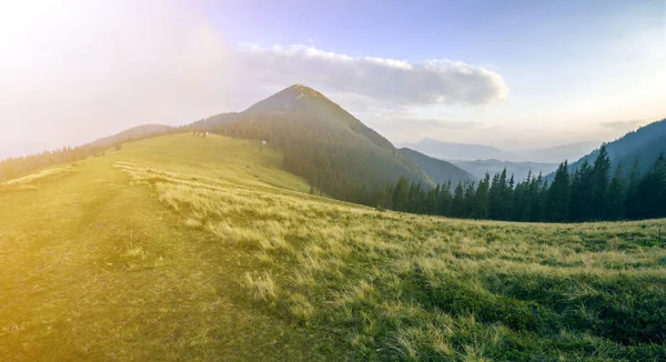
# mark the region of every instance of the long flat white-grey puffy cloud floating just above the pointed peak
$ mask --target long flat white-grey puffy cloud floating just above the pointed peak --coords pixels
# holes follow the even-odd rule
[[[480,105],[508,94],[498,73],[451,60],[413,63],[351,57],[302,44],[245,46],[238,57],[256,82],[305,83],[324,91],[356,93],[402,105]]]

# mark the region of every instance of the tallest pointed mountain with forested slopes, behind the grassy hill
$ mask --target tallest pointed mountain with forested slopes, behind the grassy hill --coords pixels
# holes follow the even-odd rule
[[[289,87],[243,112],[219,114],[192,127],[265,140],[282,151],[289,171],[310,181],[311,192],[342,200],[370,203],[359,198],[396,182],[400,177],[426,188],[435,184],[389,140],[324,94],[302,84]]]

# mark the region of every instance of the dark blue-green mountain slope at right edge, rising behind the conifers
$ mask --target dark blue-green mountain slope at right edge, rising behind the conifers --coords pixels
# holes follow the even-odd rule
[[[625,175],[638,161],[640,172],[652,168],[660,153],[666,153],[666,119],[644,125],[606,145],[613,168],[622,165]],[[583,162],[594,163],[598,149],[571,163],[569,170],[577,170]],[[549,178],[552,174],[549,175]]]

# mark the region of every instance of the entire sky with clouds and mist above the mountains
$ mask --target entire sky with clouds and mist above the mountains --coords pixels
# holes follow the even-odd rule
[[[393,142],[612,141],[666,118],[666,0],[0,1],[0,158],[310,86]]]

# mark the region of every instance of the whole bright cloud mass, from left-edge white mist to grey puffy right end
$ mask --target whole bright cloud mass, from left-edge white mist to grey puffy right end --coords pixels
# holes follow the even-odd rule
[[[498,73],[463,62],[235,47],[179,1],[6,1],[0,24],[0,158],[240,111],[293,83],[354,95],[339,102],[361,115],[507,94]]]

